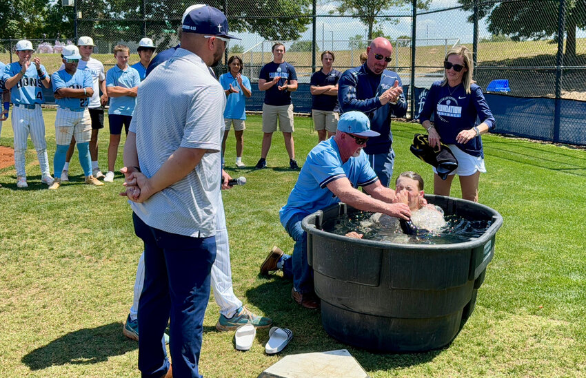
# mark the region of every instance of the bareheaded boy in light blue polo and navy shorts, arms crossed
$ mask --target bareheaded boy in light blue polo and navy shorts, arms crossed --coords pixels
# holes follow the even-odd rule
[[[134,106],[137,105],[137,91],[141,83],[141,76],[137,70],[128,66],[130,50],[125,45],[114,47],[116,65],[108,70],[105,76],[105,90],[110,97],[108,121],[110,122],[110,144],[108,145],[108,173],[104,181],[114,181],[114,167],[118,156],[122,126],[128,135],[128,127]]]

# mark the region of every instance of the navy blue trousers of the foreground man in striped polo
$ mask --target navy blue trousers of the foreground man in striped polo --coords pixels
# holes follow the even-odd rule
[[[145,224],[132,214],[145,244],[145,283],[139,301],[139,369],[159,378],[169,368],[163,333],[171,318],[169,348],[175,377],[199,378],[203,315],[210,299],[216,238],[191,238]]]

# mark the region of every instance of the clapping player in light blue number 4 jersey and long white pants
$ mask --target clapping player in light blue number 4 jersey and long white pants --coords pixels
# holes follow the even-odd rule
[[[6,66],[3,73],[4,86],[10,90],[12,108],[12,130],[14,131],[14,165],[17,169],[17,187],[26,188],[25,153],[28,134],[32,139],[41,166],[41,182],[52,185],[49,172],[45,121],[41,104],[45,102],[42,87],[50,87],[50,79],[41,59],[32,57],[32,43],[23,39],[17,43],[19,61]]]

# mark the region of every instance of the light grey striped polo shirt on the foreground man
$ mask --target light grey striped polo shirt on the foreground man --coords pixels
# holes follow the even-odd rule
[[[143,203],[131,202],[150,227],[194,238],[215,235],[225,103],[208,66],[181,48],[139,86],[130,132],[137,134],[145,176],[152,177],[179,147],[207,150],[188,176]]]

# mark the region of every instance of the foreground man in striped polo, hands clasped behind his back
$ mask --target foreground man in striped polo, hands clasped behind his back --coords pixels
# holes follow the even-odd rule
[[[171,376],[163,341],[169,316],[174,375],[201,377],[203,315],[216,257],[226,99],[208,67],[221,60],[234,37],[225,16],[210,6],[191,10],[182,29],[181,48],[139,86],[124,147],[125,195],[145,248],[139,301],[143,377]],[[228,177],[222,177],[225,187]]]

